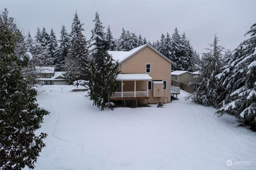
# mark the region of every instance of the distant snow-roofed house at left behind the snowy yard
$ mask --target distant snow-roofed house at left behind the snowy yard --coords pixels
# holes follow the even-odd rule
[[[38,73],[38,82],[44,82],[44,85],[67,85],[64,79],[64,71],[54,71],[54,67],[36,67]]]

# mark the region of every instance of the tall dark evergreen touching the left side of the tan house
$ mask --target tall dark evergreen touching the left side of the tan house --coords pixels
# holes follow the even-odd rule
[[[117,63],[108,54],[109,47],[106,45],[104,27],[96,12],[93,20],[94,29],[90,39],[90,64],[88,65],[90,99],[101,110],[104,110],[108,97],[115,91]]]

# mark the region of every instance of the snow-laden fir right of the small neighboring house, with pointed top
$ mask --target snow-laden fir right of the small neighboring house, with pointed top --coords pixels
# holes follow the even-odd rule
[[[222,93],[222,89],[218,88],[216,75],[223,66],[222,53],[224,47],[218,45],[218,41],[218,37],[215,35],[214,42],[209,44],[210,48],[206,49],[206,53],[202,53],[198,77],[194,77],[191,83],[195,92],[186,96],[187,100],[192,99],[192,101],[203,106],[218,107],[221,101],[220,93]]]

